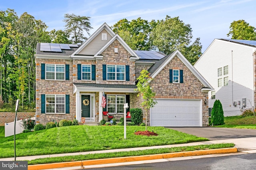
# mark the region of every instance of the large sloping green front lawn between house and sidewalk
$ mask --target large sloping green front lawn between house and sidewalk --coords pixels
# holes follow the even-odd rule
[[[208,141],[164,127],[148,127],[158,136],[135,135],[134,131],[144,131],[145,127],[127,126],[124,139],[123,126],[68,126],[21,133],[16,135],[16,156],[58,154],[92,150],[122,149],[171,145],[196,141]],[[0,140],[0,158],[14,155],[13,136]]]

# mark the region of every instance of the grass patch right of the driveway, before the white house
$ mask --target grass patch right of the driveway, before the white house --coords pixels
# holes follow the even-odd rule
[[[228,116],[224,117],[224,125],[214,127],[229,127],[240,129],[256,129],[256,116]]]

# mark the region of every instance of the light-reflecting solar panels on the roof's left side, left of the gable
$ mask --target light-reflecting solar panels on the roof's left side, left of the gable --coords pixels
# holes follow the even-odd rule
[[[76,44],[58,44],[58,43],[40,43],[40,51],[62,52],[64,50],[71,50],[70,47],[77,47]]]

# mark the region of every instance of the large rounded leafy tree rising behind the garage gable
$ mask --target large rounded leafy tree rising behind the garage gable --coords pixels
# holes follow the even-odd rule
[[[192,28],[185,24],[179,17],[171,18],[166,16],[165,20],[157,21],[156,28],[153,29],[150,36],[153,39],[154,49],[165,54],[170,54],[179,50],[190,61],[195,63],[198,55],[201,54],[202,46],[199,38],[192,45]],[[195,56],[197,55],[197,56]]]

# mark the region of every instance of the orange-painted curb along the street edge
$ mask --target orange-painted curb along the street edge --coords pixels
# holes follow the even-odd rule
[[[220,153],[232,153],[232,152],[238,152],[237,148],[194,150],[194,151],[188,151],[188,152],[174,152],[174,153],[152,154],[152,155],[142,155],[142,156],[127,156],[127,157],[120,157],[120,158],[104,158],[104,159],[82,160],[82,161],[74,161],[74,162],[37,164],[37,165],[28,165],[28,170],[44,170],[44,169],[65,168],[65,167],[72,167],[72,166],[133,162],[133,161],[141,161],[141,160],[166,159],[166,158],[175,158],[175,157],[183,157],[183,156],[198,156],[198,155],[206,155],[206,154],[220,154]]]

